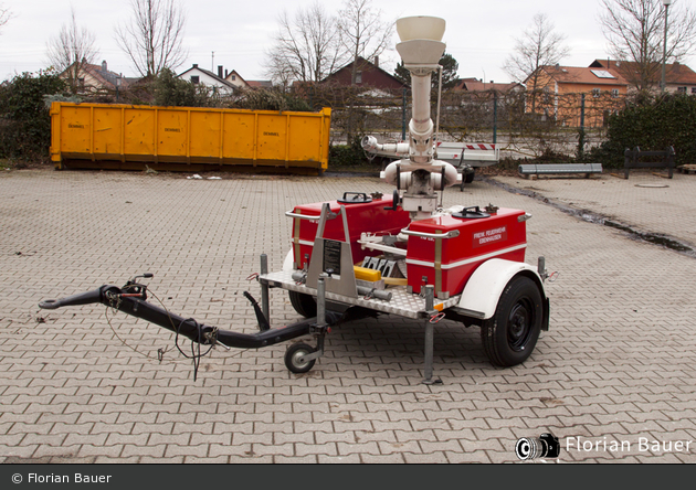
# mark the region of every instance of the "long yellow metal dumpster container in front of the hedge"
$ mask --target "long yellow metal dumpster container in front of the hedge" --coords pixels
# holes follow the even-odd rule
[[[207,167],[327,168],[331,109],[318,113],[51,105],[56,169],[204,170]]]

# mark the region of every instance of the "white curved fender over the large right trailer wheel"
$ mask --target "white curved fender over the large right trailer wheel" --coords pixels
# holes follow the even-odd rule
[[[483,320],[493,317],[505,286],[519,273],[534,274],[539,283],[541,297],[546,299],[544,281],[536,267],[523,262],[492,258],[483,263],[470,277],[457,305],[470,315]]]

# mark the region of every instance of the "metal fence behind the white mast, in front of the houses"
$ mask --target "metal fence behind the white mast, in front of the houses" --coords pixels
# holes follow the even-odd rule
[[[366,134],[383,142],[401,140],[411,117],[408,90],[315,86],[303,97],[314,107],[331,107],[335,143]],[[494,142],[504,156],[538,158],[578,155],[601,142],[609,116],[625,99],[611,93],[445,90],[439,118],[436,106],[433,90],[432,118],[442,140]]]

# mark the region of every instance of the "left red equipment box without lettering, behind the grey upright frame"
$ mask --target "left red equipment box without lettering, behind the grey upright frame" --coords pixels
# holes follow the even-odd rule
[[[321,206],[324,204],[324,202],[317,202],[295,206],[295,214],[317,216],[317,221],[298,217],[293,219],[293,256],[297,268],[303,268],[305,263],[308,265],[305,255],[312,258],[314,239],[316,238],[317,226],[319,224],[318,216],[321,214]],[[370,202],[351,202],[350,200],[340,202],[339,200],[330,201],[328,204],[333,213],[338,213],[341,205],[346,206],[354,264],[361,264],[366,256],[373,254],[369,249],[361,249],[361,246],[358,244],[361,233],[398,235],[401,230],[405,228],[411,222],[409,213],[401,207],[397,206],[397,211],[384,209],[392,207],[392,196],[371,199]],[[340,242],[346,239],[342,216],[339,215],[334,220],[327,220],[324,228],[324,238]]]

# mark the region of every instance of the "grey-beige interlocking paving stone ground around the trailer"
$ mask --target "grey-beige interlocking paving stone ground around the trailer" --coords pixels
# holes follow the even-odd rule
[[[509,179],[696,243],[694,175]],[[104,307],[36,306],[150,271],[168,309],[254,331],[242,291],[259,294],[246,278],[260,254],[282,267],[284,212],[345,191],[391,188],[365,177],[3,172],[0,461],[517,462],[519,438],[552,433],[561,462],[696,462],[696,259],[479,180],[447,190],[444,204],[531,213],[527,260],[545,255],[559,271],[547,285],[550,331],[513,369],[488,363],[477,328],[442,321],[443,384],[424,385],[422,323],[387,316],[336,329],[307,374],[285,369],[280,344],[213,350],[193,381],[159,327]],[[271,299],[273,324],[298,319],[283,291]]]

